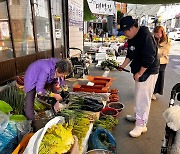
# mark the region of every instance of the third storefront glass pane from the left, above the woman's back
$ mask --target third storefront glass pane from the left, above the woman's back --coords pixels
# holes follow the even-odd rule
[[[34,0],[38,51],[52,48],[50,37],[49,6],[47,0]]]

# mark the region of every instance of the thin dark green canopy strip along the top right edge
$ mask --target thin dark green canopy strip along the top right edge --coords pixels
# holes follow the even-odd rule
[[[131,4],[174,4],[180,3],[180,0],[114,0],[121,3]]]

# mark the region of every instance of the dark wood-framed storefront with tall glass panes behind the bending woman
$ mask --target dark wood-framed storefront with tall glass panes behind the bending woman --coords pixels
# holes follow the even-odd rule
[[[0,10],[0,84],[37,59],[67,57],[68,1],[4,0]]]

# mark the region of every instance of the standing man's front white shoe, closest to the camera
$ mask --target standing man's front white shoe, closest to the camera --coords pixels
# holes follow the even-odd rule
[[[131,137],[139,137],[141,136],[142,133],[147,132],[147,127],[146,126],[135,126],[132,131],[129,132],[129,135]]]

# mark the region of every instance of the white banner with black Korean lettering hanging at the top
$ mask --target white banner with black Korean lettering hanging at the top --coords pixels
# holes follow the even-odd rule
[[[94,14],[114,15],[116,5],[114,1],[106,0],[87,0],[89,8]]]

